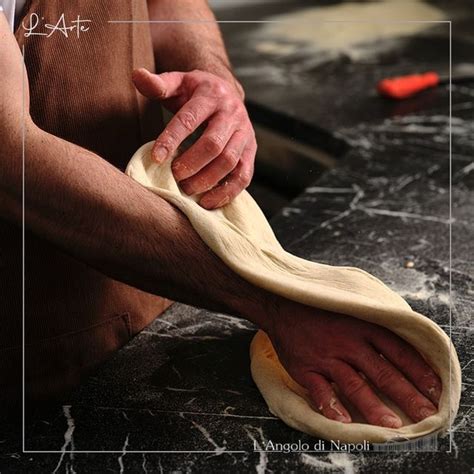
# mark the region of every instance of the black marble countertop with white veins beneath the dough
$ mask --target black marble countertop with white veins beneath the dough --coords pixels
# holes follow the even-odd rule
[[[322,97],[296,88],[284,101],[274,95],[272,105],[271,84],[260,103],[253,95],[269,113],[288,110],[286,119],[304,121],[315,134],[323,130],[348,149],[336,168],[272,219],[272,226],[290,252],[373,273],[452,336],[463,393],[450,436],[437,446],[431,440],[396,453],[259,452],[268,441],[315,440],[269,413],[255,387],[248,355],[255,327],[174,304],[63,405],[32,410],[25,428],[25,447],[32,453],[22,453],[18,420],[3,422],[0,472],[471,471],[474,84],[453,86],[450,127],[447,87],[405,103],[370,95],[373,113],[368,102],[358,107],[344,102],[342,90],[362,93],[381,74],[377,65],[345,64],[333,65],[341,69],[332,80],[345,88],[334,84],[337,97],[328,89]],[[310,103],[308,94],[325,103],[326,112],[312,116],[297,106]],[[346,119],[338,120],[337,111],[327,113],[331,97]],[[294,109],[286,109],[290,103]],[[407,268],[407,261],[413,266]]]

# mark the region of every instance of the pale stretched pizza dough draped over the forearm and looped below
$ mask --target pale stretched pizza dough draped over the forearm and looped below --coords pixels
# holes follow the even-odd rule
[[[384,326],[411,343],[442,380],[439,411],[419,423],[405,418],[399,429],[364,422],[329,420],[308,403],[305,390],[279,363],[265,333],[250,348],[252,376],[270,411],[289,426],[313,436],[344,442],[384,442],[442,431],[459,406],[461,369],[451,341],[430,319],[402,297],[358,268],[314,263],[285,252],[262,211],[247,192],[224,208],[207,211],[181,193],[170,162],[151,160],[152,143],[132,157],[126,173],[178,207],[204,242],[241,277],[288,299]]]

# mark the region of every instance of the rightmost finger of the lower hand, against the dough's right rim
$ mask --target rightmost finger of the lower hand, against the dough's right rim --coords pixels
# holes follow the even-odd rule
[[[398,367],[423,395],[438,405],[442,389],[441,380],[410,344],[386,331],[374,334],[370,342],[379,353]]]

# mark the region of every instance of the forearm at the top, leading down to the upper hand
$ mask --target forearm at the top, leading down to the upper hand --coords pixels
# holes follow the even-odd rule
[[[232,73],[215,17],[205,0],[148,0],[150,20],[186,21],[152,23],[151,34],[159,72],[211,72],[231,82],[243,97],[243,89]]]

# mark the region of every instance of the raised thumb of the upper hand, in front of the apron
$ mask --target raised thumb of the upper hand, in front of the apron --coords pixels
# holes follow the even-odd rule
[[[145,68],[135,69],[132,80],[138,91],[149,99],[164,100],[178,95],[184,78],[183,72],[152,74]]]

